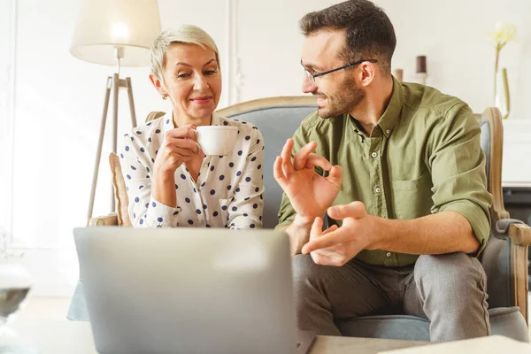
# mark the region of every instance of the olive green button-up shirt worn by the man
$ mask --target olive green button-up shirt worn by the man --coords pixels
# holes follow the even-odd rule
[[[342,166],[342,187],[333,205],[358,200],[369,214],[386,219],[458,212],[481,243],[479,254],[489,239],[491,204],[480,135],[472,110],[457,97],[394,80],[389,105],[371,135],[349,114],[323,119],[314,112],[293,140],[294,154],[315,141],[318,155]],[[316,172],[323,174],[319,167]],[[289,225],[295,215],[284,194],[277,228]],[[373,265],[406,266],[419,256],[362,250],[356,258]]]

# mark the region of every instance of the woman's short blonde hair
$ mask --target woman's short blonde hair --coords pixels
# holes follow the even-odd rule
[[[172,43],[196,44],[202,48],[210,48],[216,53],[219,66],[218,46],[204,29],[193,25],[181,25],[174,29],[166,29],[155,38],[150,52],[151,73],[156,74],[158,79],[163,82],[166,50]]]

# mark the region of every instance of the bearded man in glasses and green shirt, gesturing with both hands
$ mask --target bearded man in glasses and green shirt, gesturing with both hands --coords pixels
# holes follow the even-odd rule
[[[489,335],[476,257],[491,196],[473,112],[393,78],[395,32],[367,0],[308,13],[300,26],[303,91],[319,109],[274,164],[299,327],[341,335],[338,321],[401,312],[429,319],[432,341]]]

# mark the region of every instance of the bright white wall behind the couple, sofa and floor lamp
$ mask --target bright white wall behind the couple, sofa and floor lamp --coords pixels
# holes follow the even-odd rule
[[[0,0],[0,73],[5,73],[10,48],[15,48],[4,45],[8,13],[4,10],[12,3],[19,5],[12,115],[2,103],[13,90],[10,92],[11,86],[4,83],[4,76],[0,80],[0,114],[4,114],[0,130],[9,130],[10,122],[14,122],[10,231],[16,244],[29,248],[26,264],[37,279],[37,293],[68,295],[77,277],[72,228],[86,223],[105,80],[113,67],[89,64],[70,55],[79,0]],[[218,42],[224,74],[223,106],[264,96],[299,95],[304,38],[297,21],[305,12],[335,3],[159,0],[159,8],[163,28],[181,22],[196,24]],[[428,84],[462,97],[476,112],[493,102],[494,50],[485,33],[496,21],[514,23],[520,41],[504,49],[501,65],[509,72],[511,119],[531,121],[527,111],[531,87],[526,85],[531,81],[531,28],[525,20],[531,16],[531,1],[505,2],[510,5],[498,0],[376,3],[386,9],[395,24],[398,45],[393,65],[405,69],[405,80],[412,79],[415,57],[427,55]],[[121,73],[132,77],[139,121],[150,111],[168,108],[150,87],[147,67],[123,68]],[[124,92],[120,96],[120,131],[130,125],[127,113]],[[2,136],[0,143],[4,143]],[[109,212],[106,156],[110,143],[110,139],[105,141],[94,214]],[[0,161],[9,160],[9,155],[9,149],[0,150]],[[7,169],[9,173],[9,165]],[[531,181],[531,170],[523,173],[528,173]],[[1,192],[0,204],[5,208],[6,191]],[[3,215],[7,215],[2,207],[0,212],[4,210]]]

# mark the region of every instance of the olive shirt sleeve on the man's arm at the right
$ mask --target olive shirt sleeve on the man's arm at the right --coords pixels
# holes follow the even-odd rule
[[[468,106],[454,107],[432,135],[429,165],[432,170],[434,206],[431,212],[453,211],[463,215],[481,243],[489,240],[489,207],[485,155],[481,128]]]

